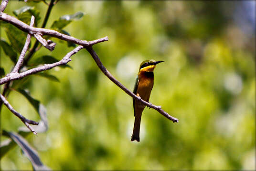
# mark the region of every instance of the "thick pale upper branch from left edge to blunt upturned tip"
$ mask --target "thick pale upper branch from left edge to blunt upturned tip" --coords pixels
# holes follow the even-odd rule
[[[102,41],[107,41],[107,39],[108,39],[107,37],[105,37],[105,38],[101,38],[101,39],[97,39],[97,40],[93,40],[93,41],[80,40],[78,38],[74,38],[72,36],[68,36],[68,35],[59,33],[58,31],[55,31],[55,30],[46,29],[46,28],[31,27],[31,26],[27,25],[26,23],[23,23],[19,19],[16,19],[15,17],[12,17],[12,16],[10,16],[6,13],[3,13],[3,12],[0,13],[0,20],[3,20],[3,21],[6,21],[6,22],[10,23],[13,26],[21,29],[22,31],[31,34],[34,37],[35,37],[35,35],[40,35],[40,36],[48,35],[48,36],[52,36],[54,38],[59,38],[59,39],[65,40],[65,41],[70,41],[70,42],[73,42],[75,44],[82,45],[84,47],[92,46],[96,43],[99,43],[99,42],[102,42]],[[47,46],[45,46],[45,47],[47,48]],[[49,49],[49,50],[51,50],[51,49]]]

